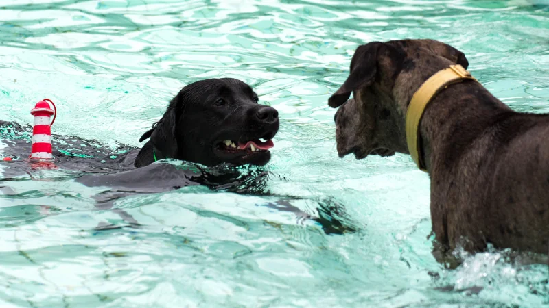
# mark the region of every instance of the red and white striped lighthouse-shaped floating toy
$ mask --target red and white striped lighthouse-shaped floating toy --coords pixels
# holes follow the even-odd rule
[[[49,103],[54,106],[54,110],[49,107]],[[30,114],[34,116],[34,126],[32,127],[32,150],[31,159],[54,159],[51,155],[51,125],[54,124],[57,116],[57,108],[50,99],[43,99],[36,103]],[[50,121],[51,116],[54,120]]]

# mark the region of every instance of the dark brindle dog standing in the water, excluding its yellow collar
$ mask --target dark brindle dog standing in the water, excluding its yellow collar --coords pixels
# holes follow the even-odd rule
[[[463,53],[434,40],[358,47],[349,77],[329,99],[341,106],[334,119],[339,155],[408,154],[408,104],[429,77],[452,64],[468,66]],[[458,245],[471,252],[488,243],[549,251],[548,115],[514,112],[465,80],[436,94],[418,134],[431,179],[437,259]]]

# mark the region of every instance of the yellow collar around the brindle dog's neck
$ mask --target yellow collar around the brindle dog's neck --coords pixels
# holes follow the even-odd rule
[[[419,121],[423,116],[423,111],[433,97],[451,84],[456,84],[465,79],[476,79],[471,76],[463,66],[450,65],[449,68],[439,70],[438,73],[432,75],[425,81],[421,87],[414,93],[408,112],[406,112],[406,142],[408,143],[408,151],[412,155],[412,159],[417,164],[421,171],[425,171],[425,163],[421,161],[421,149],[419,146]]]

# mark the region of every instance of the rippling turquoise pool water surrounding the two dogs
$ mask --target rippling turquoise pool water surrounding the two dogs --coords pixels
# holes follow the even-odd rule
[[[0,195],[0,307],[542,307],[548,267],[502,252],[445,270],[430,254],[429,180],[410,157],[338,159],[327,99],[358,44],[434,38],[513,109],[549,112],[547,1],[0,0],[0,120],[139,146],[185,84],[235,77],[279,110],[267,188],[309,214],[344,207],[326,235],[204,187],[122,198],[144,227],[60,171]],[[0,171],[5,165],[0,164]]]

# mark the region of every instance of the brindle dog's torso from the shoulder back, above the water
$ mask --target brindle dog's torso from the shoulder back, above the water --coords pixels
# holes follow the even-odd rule
[[[549,251],[549,116],[511,110],[432,174],[432,218],[452,250]]]

